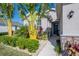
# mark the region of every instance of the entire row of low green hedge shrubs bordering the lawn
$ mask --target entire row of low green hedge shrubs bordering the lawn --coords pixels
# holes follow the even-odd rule
[[[0,43],[19,47],[20,49],[28,49],[29,52],[34,53],[39,48],[38,40],[33,40],[23,37],[9,37],[9,36],[0,36]]]

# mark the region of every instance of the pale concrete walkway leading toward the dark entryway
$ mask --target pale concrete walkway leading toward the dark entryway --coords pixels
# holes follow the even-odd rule
[[[47,44],[43,47],[38,56],[56,56],[57,54],[54,51],[55,45],[56,40],[54,37],[52,37],[50,40],[48,40]]]

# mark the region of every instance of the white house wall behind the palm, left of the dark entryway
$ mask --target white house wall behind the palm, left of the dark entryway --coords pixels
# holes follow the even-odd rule
[[[56,11],[49,11],[47,15],[51,16],[52,22],[57,20]],[[43,31],[45,31],[47,28],[51,28],[51,23],[48,21],[47,18],[41,18],[41,25],[42,25]]]

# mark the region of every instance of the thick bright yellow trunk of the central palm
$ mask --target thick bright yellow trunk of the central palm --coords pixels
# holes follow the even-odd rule
[[[30,24],[29,24],[29,36],[30,36],[30,39],[37,39],[37,31],[36,31],[36,28],[34,26],[34,21],[36,20],[36,15],[30,15]]]

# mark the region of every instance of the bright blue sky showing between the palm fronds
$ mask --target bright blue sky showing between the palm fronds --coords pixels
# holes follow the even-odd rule
[[[55,8],[55,3],[50,3],[49,4],[49,7],[50,8]],[[36,11],[38,11],[39,7],[36,6]],[[26,11],[27,12],[27,11]],[[19,22],[19,23],[23,23],[21,17],[19,16],[19,12],[18,12],[18,5],[17,4],[14,4],[14,12],[13,12],[13,18],[12,18],[12,21],[13,22]]]

